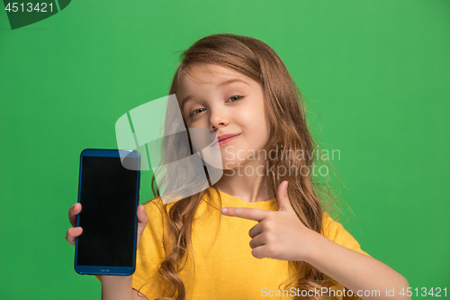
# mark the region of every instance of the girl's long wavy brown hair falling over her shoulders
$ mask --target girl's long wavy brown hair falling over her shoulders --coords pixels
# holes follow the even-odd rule
[[[181,63],[175,71],[169,95],[176,95],[180,110],[182,110],[180,80],[184,71],[188,72],[189,67],[197,63],[212,63],[232,68],[253,78],[263,86],[266,97],[266,119],[270,126],[267,149],[278,149],[277,159],[268,159],[267,168],[277,170],[279,168],[291,169],[295,166],[299,170],[298,174],[287,172],[284,176],[266,172],[264,180],[269,193],[272,198],[275,198],[276,203],[277,187],[281,182],[287,180],[289,182],[288,197],[299,219],[311,230],[323,232],[324,205],[336,197],[329,193],[329,186],[311,174],[313,164],[315,161],[319,161],[318,156],[321,156],[322,152],[308,130],[305,120],[305,103],[300,89],[282,59],[265,42],[251,37],[231,33],[206,36],[193,43],[188,50],[182,53]],[[177,132],[174,131],[174,128],[187,128],[185,120],[183,123],[174,123],[175,116],[172,115],[174,111],[169,112],[167,109],[166,130]],[[161,152],[164,157],[163,162],[183,159],[193,154],[192,147],[189,147],[189,144],[180,143],[179,139],[180,136],[174,134],[166,137]],[[180,149],[180,145],[185,145],[184,149]],[[281,147],[282,145],[283,147]],[[301,159],[295,155],[299,151],[305,154]],[[313,155],[311,156],[311,154]],[[310,170],[310,172],[302,175],[300,170]],[[166,178],[171,176],[174,178],[174,174],[163,175]],[[200,187],[205,184],[204,180],[202,181],[195,174],[188,178],[191,185]],[[155,190],[155,179],[153,176],[152,190],[155,195],[160,195],[157,188]],[[165,290],[165,297],[161,299],[171,299],[172,297],[175,297],[176,300],[185,299],[184,283],[178,273],[184,268],[187,256],[190,254],[192,225],[198,205],[203,198],[211,199],[212,192],[219,194],[214,185],[211,187],[212,189],[206,188],[200,193],[170,205],[164,205],[165,209],[162,212],[163,220],[165,220],[163,244],[166,250],[166,259],[158,269]],[[328,199],[323,199],[324,196],[327,196]],[[278,204],[276,203],[276,205]],[[289,268],[295,275],[286,278],[286,282],[290,281],[287,286],[293,285],[301,290],[314,290],[314,288],[320,289],[322,286],[331,286],[334,283],[330,277],[304,261],[290,261]],[[323,299],[321,296],[302,298]]]

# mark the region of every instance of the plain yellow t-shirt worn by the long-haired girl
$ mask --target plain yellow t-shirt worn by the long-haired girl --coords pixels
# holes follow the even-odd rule
[[[212,191],[212,195],[215,195]],[[242,199],[220,192],[222,207],[251,207],[277,210],[274,200],[247,203]],[[216,199],[214,199],[216,200]],[[256,221],[229,217],[220,214],[218,201],[198,206],[193,223],[192,247],[193,263],[188,259],[179,275],[186,289],[186,300],[202,299],[292,299],[288,287],[284,296],[275,296],[289,283],[288,261],[279,259],[256,259],[251,254],[248,231],[257,224]],[[137,250],[136,271],[132,276],[133,289],[139,290],[148,299],[162,296],[157,286],[158,265],[165,259],[162,244],[162,202],[160,198],[146,203],[148,224],[142,233]],[[219,226],[220,220],[220,226]],[[331,219],[329,214],[323,216],[323,235],[339,245],[365,253],[359,243],[344,227]],[[194,269],[194,273],[192,270]],[[100,279],[100,277],[96,276]],[[343,286],[337,286],[342,288]],[[272,292],[271,292],[272,291]],[[274,296],[269,296],[274,295]]]

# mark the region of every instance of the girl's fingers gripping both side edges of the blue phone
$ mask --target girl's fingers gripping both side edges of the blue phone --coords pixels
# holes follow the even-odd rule
[[[81,212],[81,208],[82,208],[81,204],[76,203],[75,205],[72,205],[68,210],[68,221],[72,224],[73,227],[67,230],[66,241],[68,241],[68,243],[70,243],[73,246],[75,246],[76,237],[80,236],[81,233],[83,233],[83,228],[76,227],[76,216]],[[140,237],[142,235],[142,232],[144,232],[145,226],[148,223],[148,215],[145,211],[144,205],[138,206],[138,212],[136,214],[138,215],[138,247],[139,247]]]

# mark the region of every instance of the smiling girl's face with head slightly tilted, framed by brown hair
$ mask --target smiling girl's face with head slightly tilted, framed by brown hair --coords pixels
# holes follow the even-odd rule
[[[238,71],[216,64],[194,65],[189,73],[192,76],[184,72],[180,82],[188,127],[208,128],[216,132],[218,140],[225,134],[237,135],[219,143],[223,169],[260,165],[258,150],[265,149],[270,132],[263,87]],[[264,159],[265,155],[261,153],[260,157]]]

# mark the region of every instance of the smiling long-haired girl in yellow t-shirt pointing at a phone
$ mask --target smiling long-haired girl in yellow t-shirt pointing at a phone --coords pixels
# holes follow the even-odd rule
[[[218,167],[206,161],[210,187],[202,189],[199,174],[184,174],[200,192],[139,205],[136,271],[99,277],[102,299],[383,299],[392,289],[390,299],[401,297],[408,281],[361,250],[324,211],[311,157],[320,150],[275,50],[235,34],[202,38],[184,51],[170,95],[183,122],[167,109],[166,131],[215,132],[223,175],[212,180]],[[163,162],[196,152],[184,144],[167,136]],[[162,182],[169,185],[173,172]],[[78,204],[69,210],[74,227],[80,211]],[[69,229],[67,241],[81,233]]]

